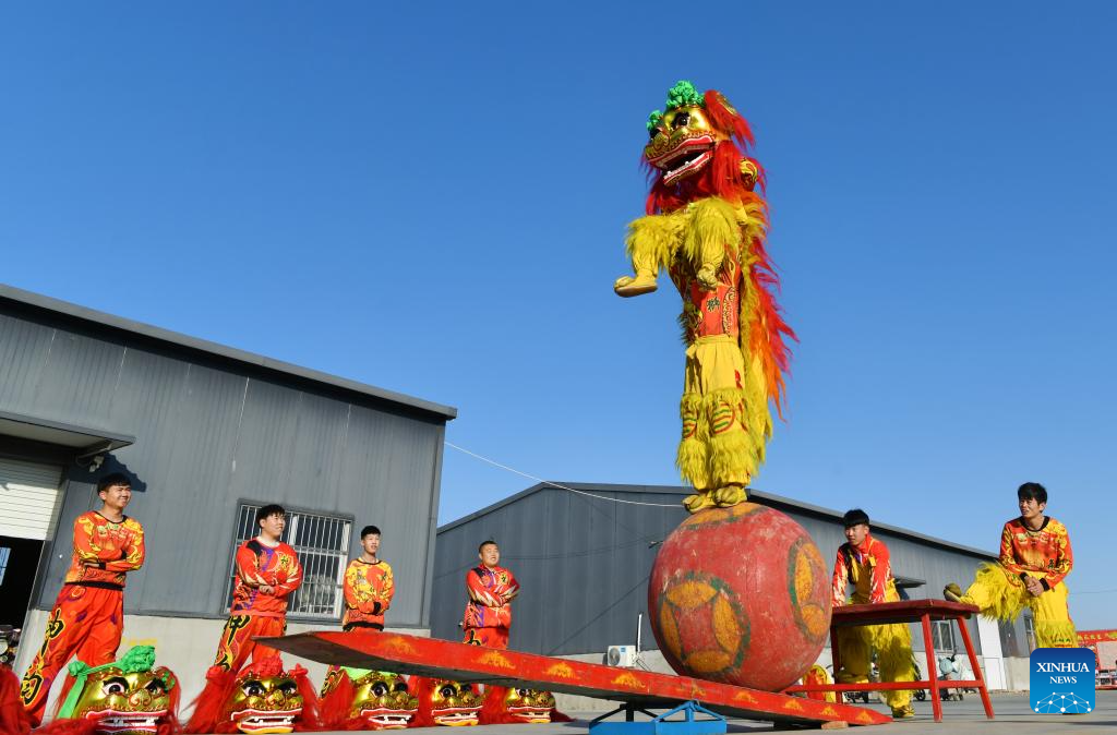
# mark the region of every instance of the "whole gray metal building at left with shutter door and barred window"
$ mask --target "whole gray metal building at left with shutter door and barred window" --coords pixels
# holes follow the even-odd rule
[[[305,582],[293,630],[333,627],[360,528],[390,529],[393,628],[428,630],[446,422],[456,410],[0,285],[0,623],[27,612],[25,667],[69,563],[74,518],[111,471],[147,560],[124,645],[200,686],[232,551],[280,503]],[[7,553],[3,550],[7,548]],[[2,571],[2,569],[0,569]],[[197,676],[189,676],[195,671]]]

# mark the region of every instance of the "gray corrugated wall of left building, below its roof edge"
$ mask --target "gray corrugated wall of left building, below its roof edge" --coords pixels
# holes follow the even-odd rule
[[[127,513],[147,543],[147,563],[128,575],[128,612],[223,615],[238,500],[247,499],[380,526],[398,580],[390,623],[428,626],[445,420],[20,309],[0,314],[0,409],[136,437],[95,474],[69,468],[38,607],[58,592],[69,527],[95,507],[96,479],[124,469],[139,478]]]

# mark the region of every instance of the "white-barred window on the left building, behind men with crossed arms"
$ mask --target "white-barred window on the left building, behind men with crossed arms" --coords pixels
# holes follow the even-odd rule
[[[264,503],[241,503],[237,514],[237,542],[229,561],[229,583],[225,610],[232,607],[232,586],[237,576],[237,550],[259,534],[256,512]],[[337,620],[344,598],[342,583],[349,561],[352,519],[325,513],[287,510],[283,541],[290,544],[303,564],[303,584],[287,598],[287,614],[315,620]]]

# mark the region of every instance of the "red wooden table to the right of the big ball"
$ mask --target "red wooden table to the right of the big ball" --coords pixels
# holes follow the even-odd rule
[[[923,648],[927,651],[927,678],[919,681],[878,681],[867,684],[808,684],[799,685],[787,689],[792,691],[881,691],[894,689],[930,689],[930,705],[935,713],[935,722],[943,722],[943,703],[939,698],[939,682],[954,687],[976,687],[981,693],[982,704],[985,705],[985,716],[993,719],[993,703],[989,700],[989,689],[985,687],[985,677],[977,665],[977,655],[974,653],[974,645],[970,639],[970,631],[965,621],[975,612],[977,608],[972,604],[961,602],[948,602],[946,600],[903,600],[900,602],[881,602],[878,604],[849,604],[834,608],[833,617],[830,619],[830,655],[834,662],[834,674],[841,668],[839,659],[837,636],[838,628],[856,628],[859,626],[879,626],[892,622],[919,622],[923,624]],[[932,620],[954,620],[962,631],[962,642],[965,643],[966,655],[970,657],[970,668],[974,671],[976,679],[939,679],[938,669],[935,666],[935,645],[930,637]]]

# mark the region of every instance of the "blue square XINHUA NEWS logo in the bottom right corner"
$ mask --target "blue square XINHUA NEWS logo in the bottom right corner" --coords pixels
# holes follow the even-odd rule
[[[1041,715],[1094,712],[1094,651],[1037,648],[1032,651],[1029,704]]]

